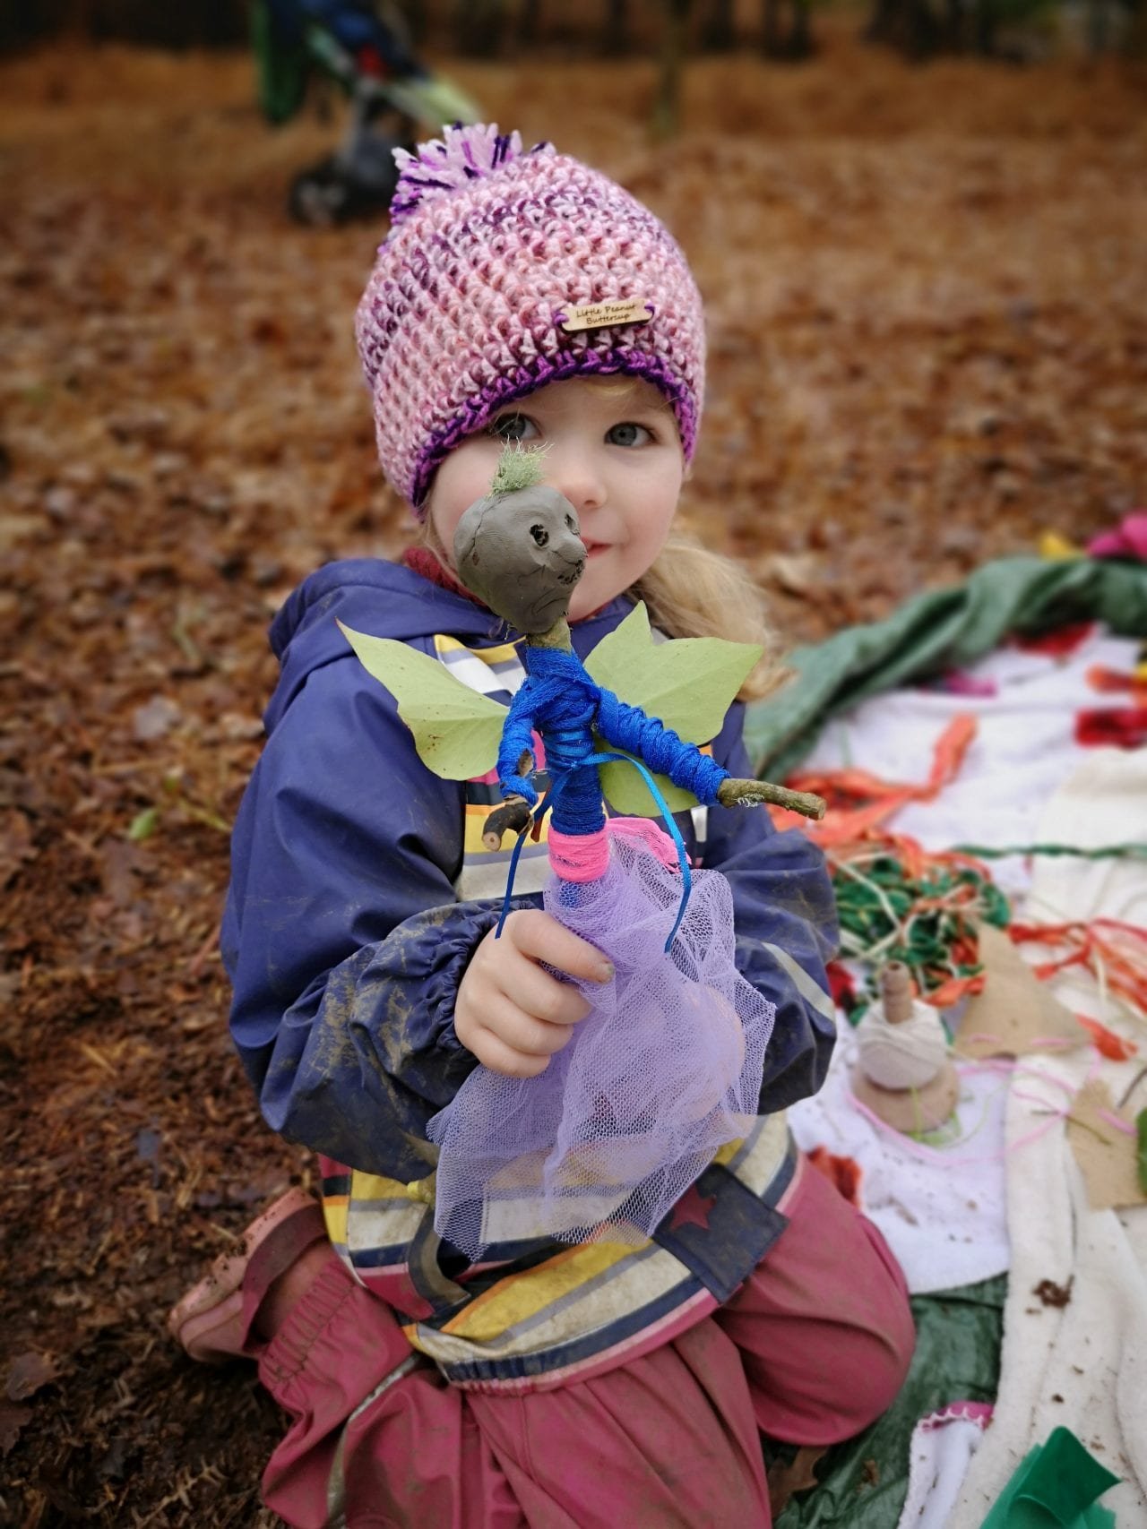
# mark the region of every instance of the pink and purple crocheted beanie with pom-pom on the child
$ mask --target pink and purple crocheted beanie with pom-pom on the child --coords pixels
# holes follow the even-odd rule
[[[705,379],[700,295],[662,223],[549,144],[445,128],[396,151],[392,228],[355,335],[382,471],[421,514],[434,469],[546,382],[625,373],[659,387],[693,456]],[[642,321],[569,332],[624,303]],[[644,318],[644,315],[648,315]]]

